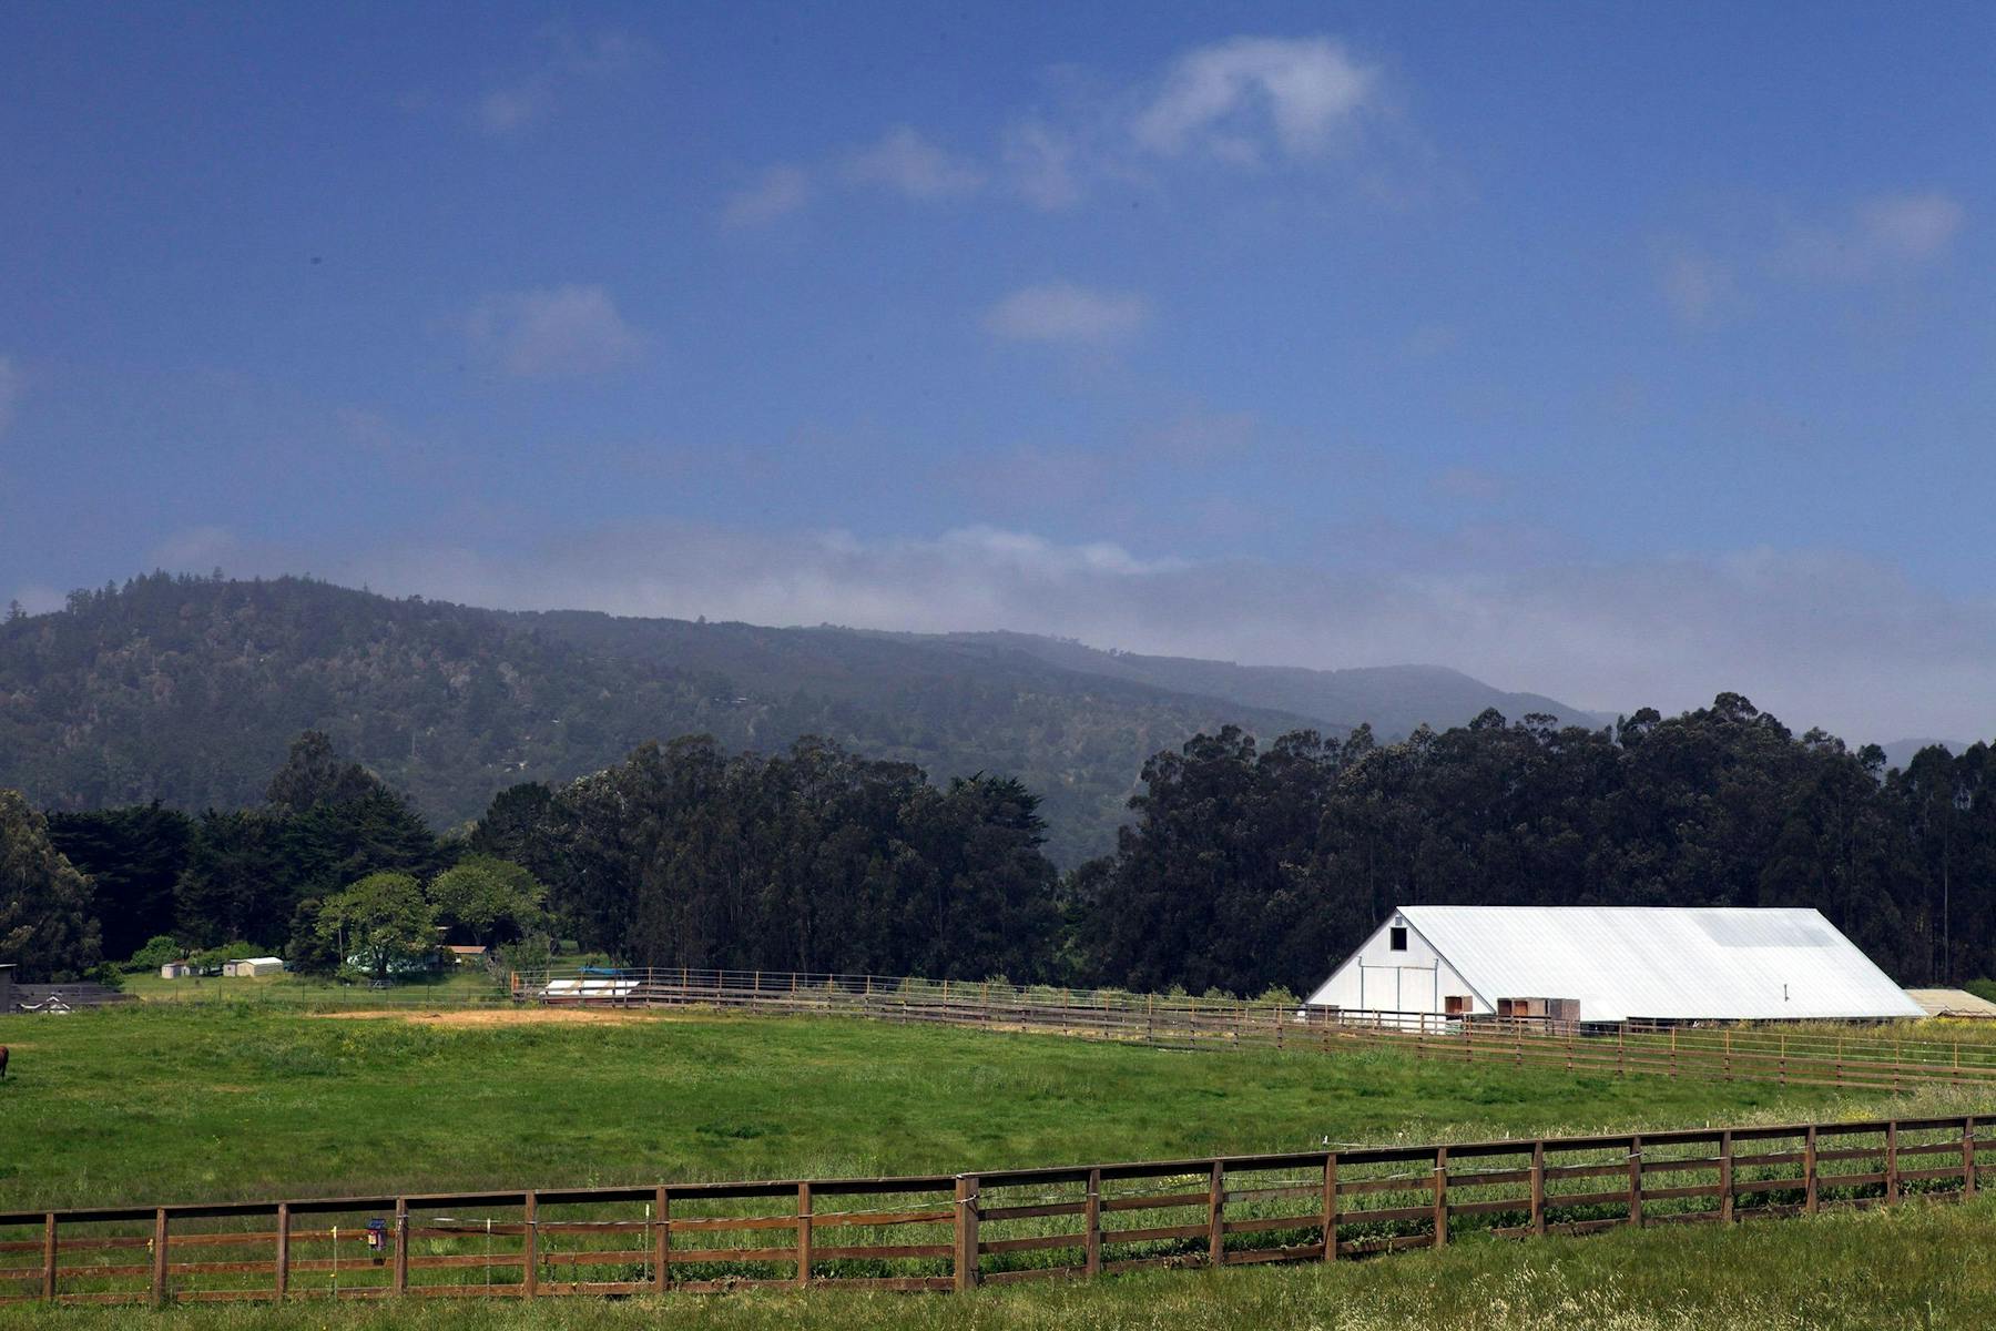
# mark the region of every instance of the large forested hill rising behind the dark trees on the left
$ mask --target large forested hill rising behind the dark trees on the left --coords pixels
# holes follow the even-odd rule
[[[505,615],[307,579],[152,575],[0,625],[0,786],[44,808],[255,804],[299,730],[439,826],[519,780],[707,732],[774,752],[820,734],[936,780],[1018,776],[1048,850],[1112,842],[1144,758],[1238,722],[1305,718],[878,635]]]

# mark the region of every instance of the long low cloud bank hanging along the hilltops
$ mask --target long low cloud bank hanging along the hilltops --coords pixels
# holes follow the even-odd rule
[[[190,545],[196,569],[220,549]],[[511,553],[293,555],[265,571],[313,567],[515,609],[1018,629],[1248,665],[1437,663],[1597,710],[1671,712],[1737,690],[1796,730],[1822,724],[1854,742],[1988,736],[1996,696],[1996,605],[1942,597],[1836,551],[1505,565],[1469,549],[1377,569],[1158,559],[998,527],[860,541],[689,525],[539,545],[509,529],[501,549]]]

